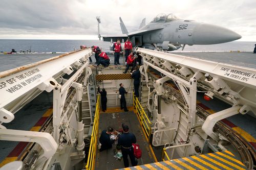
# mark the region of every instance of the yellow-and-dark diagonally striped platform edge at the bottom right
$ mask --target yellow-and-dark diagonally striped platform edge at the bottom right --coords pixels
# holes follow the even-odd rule
[[[191,156],[122,169],[244,169],[247,168],[229,151]]]

